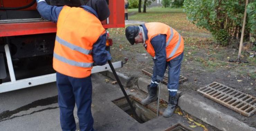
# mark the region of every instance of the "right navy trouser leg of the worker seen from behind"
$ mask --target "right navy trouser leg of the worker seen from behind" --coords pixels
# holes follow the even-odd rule
[[[92,103],[92,82],[91,77],[71,78],[75,102],[77,106],[77,116],[79,118],[80,131],[94,131],[93,117],[91,112]]]

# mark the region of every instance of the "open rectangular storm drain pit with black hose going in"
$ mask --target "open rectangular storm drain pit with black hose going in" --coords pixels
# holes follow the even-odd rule
[[[125,99],[125,97],[113,100],[112,102],[115,103],[119,108],[129,114],[132,118],[134,118],[139,123],[147,122],[156,117],[156,112],[152,109],[148,108],[148,106],[142,105],[136,98],[129,96],[129,99],[135,108],[135,111],[140,120],[136,120],[135,116],[132,114],[132,110]]]

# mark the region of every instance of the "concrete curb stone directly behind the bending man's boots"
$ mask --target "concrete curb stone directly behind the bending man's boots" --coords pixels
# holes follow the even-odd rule
[[[147,85],[149,85],[150,83],[151,83],[150,79],[139,78],[138,79],[138,88],[140,90],[148,93]],[[158,90],[157,90],[157,94],[158,94]],[[181,91],[178,90],[177,95],[180,96]],[[168,97],[169,97],[168,88],[165,84],[162,84],[161,85],[160,98],[162,98],[164,101],[168,102]]]

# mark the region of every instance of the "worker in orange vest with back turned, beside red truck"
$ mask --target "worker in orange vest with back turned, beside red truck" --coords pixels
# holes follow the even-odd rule
[[[106,0],[91,0],[86,6],[50,6],[37,0],[37,10],[46,20],[57,22],[53,52],[60,123],[63,131],[75,131],[75,103],[81,131],[94,131],[91,113],[93,63],[111,60],[106,51],[107,33],[101,21],[109,17]]]

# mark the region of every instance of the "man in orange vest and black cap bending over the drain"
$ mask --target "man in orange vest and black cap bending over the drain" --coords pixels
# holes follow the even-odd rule
[[[143,43],[144,48],[153,57],[154,68],[152,81],[148,85],[148,96],[141,103],[146,105],[157,100],[157,85],[164,79],[168,66],[168,107],[163,116],[171,117],[177,105],[181,62],[183,58],[184,42],[181,35],[164,23],[151,22],[140,26],[129,26],[125,30],[128,41]]]

